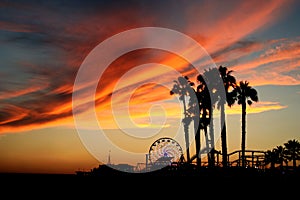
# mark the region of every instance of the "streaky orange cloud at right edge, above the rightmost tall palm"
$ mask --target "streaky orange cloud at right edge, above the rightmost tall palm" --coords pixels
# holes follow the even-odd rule
[[[248,80],[252,85],[297,85],[299,75],[295,74],[300,65],[300,42],[281,39],[264,44],[263,48],[253,50],[258,56],[240,60],[230,69],[238,78]]]

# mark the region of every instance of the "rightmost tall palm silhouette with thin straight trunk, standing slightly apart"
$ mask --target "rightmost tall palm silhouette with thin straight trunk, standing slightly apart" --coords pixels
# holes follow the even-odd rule
[[[258,102],[257,91],[249,85],[248,81],[240,81],[240,84],[235,87],[237,92],[237,101],[242,105],[242,167],[246,166],[245,149],[246,149],[246,107],[252,105],[253,102]]]

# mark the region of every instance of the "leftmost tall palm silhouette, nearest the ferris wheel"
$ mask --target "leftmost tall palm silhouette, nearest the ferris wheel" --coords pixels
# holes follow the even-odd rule
[[[178,94],[179,100],[181,100],[182,104],[183,104],[184,118],[182,119],[182,123],[184,126],[184,133],[185,133],[187,162],[189,163],[190,162],[189,125],[192,121],[192,116],[188,112],[186,98],[187,98],[187,96],[192,96],[193,95],[192,93],[195,92],[194,89],[191,87],[194,85],[194,83],[191,82],[187,76],[185,76],[185,77],[180,76],[174,82],[175,82],[175,84],[173,85],[173,88],[170,91],[170,95]]]

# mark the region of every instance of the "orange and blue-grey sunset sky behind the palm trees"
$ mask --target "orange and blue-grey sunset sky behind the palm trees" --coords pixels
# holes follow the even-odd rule
[[[300,140],[299,11],[296,0],[1,1],[0,172],[74,173],[107,162],[109,152],[111,162],[135,165],[144,162],[155,139],[181,141],[182,102],[169,94],[168,84],[178,75],[196,83],[198,75],[182,57],[161,49],[128,51],[96,80],[94,96],[88,96],[94,71],[85,71],[87,81],[75,85],[97,45],[140,27],[190,37],[213,61],[203,66],[225,66],[258,91],[259,102],[247,110],[247,149]],[[143,42],[131,35],[107,52]],[[180,49],[180,42],[171,43]],[[226,109],[232,152],[240,149],[241,108]],[[94,140],[99,129],[103,137]],[[83,135],[92,135],[91,144]]]

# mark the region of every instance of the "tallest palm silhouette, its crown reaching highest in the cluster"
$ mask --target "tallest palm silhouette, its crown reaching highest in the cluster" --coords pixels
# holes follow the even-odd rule
[[[219,66],[219,73],[223,80],[224,89],[226,93],[226,99],[221,98],[218,103],[218,108],[221,110],[221,144],[222,144],[222,165],[228,166],[227,160],[227,131],[226,131],[226,119],[225,119],[225,104],[231,107],[236,101],[237,93],[234,88],[236,87],[236,79],[231,75],[233,71],[228,70],[227,67]]]

